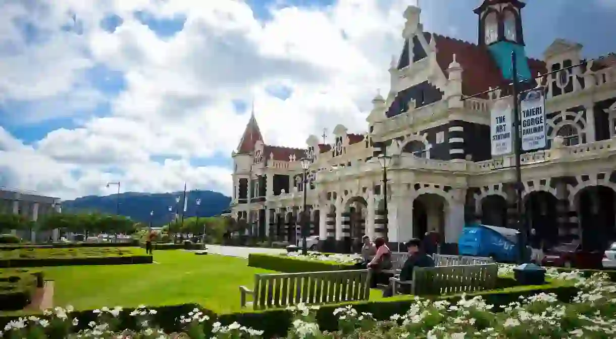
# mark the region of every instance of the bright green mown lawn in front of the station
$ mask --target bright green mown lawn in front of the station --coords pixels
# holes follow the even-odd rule
[[[182,250],[154,252],[153,264],[59,266],[43,268],[54,280],[54,306],[76,309],[197,303],[218,313],[240,311],[240,285],[253,288],[254,274],[265,269],[248,261]],[[381,292],[371,291],[370,299]]]

